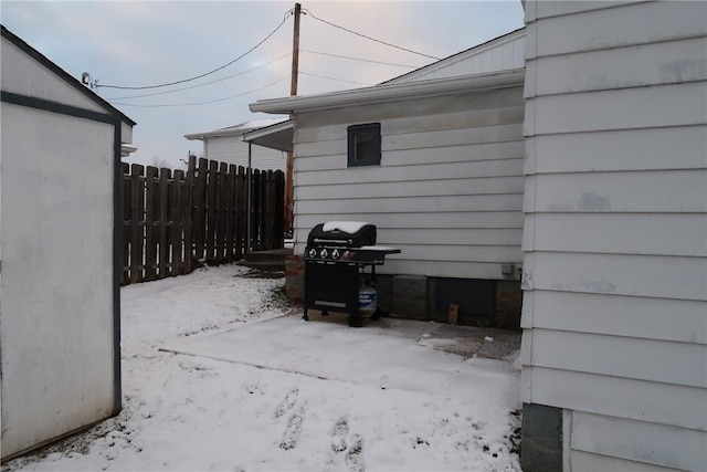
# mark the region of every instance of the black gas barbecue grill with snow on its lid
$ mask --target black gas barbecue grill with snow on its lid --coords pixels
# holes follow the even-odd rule
[[[376,245],[373,224],[356,221],[331,221],[313,228],[305,248],[305,313],[308,308],[348,313],[349,326],[361,326],[359,294],[373,292],[376,265],[386,255],[399,254],[395,248]],[[370,268],[370,273],[366,269]],[[374,296],[374,295],[373,295]],[[371,313],[376,318],[378,311]]]

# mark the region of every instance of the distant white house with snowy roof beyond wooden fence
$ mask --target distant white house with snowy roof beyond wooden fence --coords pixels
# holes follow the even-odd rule
[[[286,117],[264,118],[211,132],[192,133],[184,135],[184,137],[189,140],[201,140],[203,143],[202,157],[205,159],[249,167],[250,157],[253,168],[260,170],[285,170],[287,164],[285,153],[253,145],[249,156],[249,144],[245,143],[242,137],[251,130],[276,125],[286,120]]]

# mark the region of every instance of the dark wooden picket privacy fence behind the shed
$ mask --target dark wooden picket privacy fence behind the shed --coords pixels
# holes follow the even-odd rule
[[[250,187],[250,198],[249,198]],[[188,274],[203,263],[281,249],[282,170],[261,171],[189,158],[183,170],[123,164],[120,283]],[[250,211],[249,211],[250,209]],[[250,217],[250,218],[249,218]]]

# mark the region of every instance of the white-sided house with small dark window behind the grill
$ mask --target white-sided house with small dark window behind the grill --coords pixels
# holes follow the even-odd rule
[[[402,250],[377,271],[395,314],[446,322],[454,304],[517,327],[524,44],[521,29],[372,87],[252,104],[294,116],[295,254],[317,223],[368,221]]]

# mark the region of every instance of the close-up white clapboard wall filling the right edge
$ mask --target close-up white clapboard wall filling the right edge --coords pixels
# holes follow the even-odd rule
[[[523,401],[571,471],[707,468],[707,3],[526,2]]]

